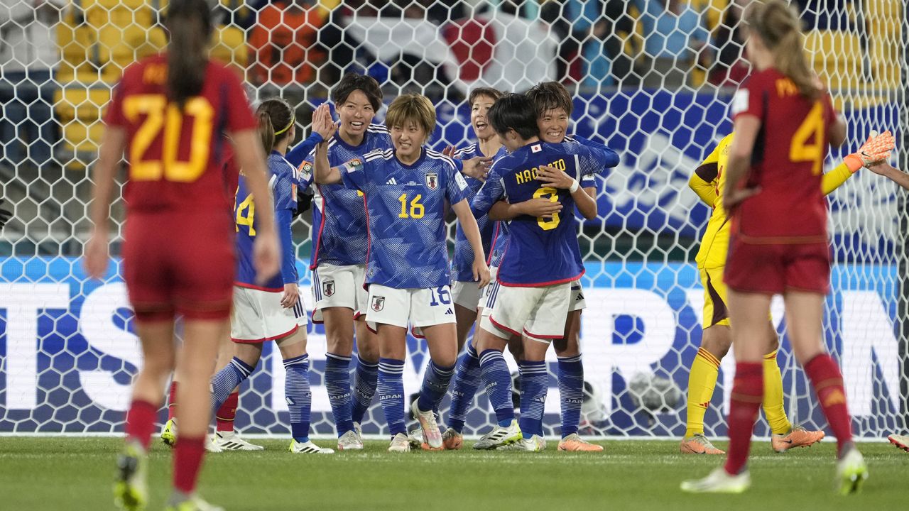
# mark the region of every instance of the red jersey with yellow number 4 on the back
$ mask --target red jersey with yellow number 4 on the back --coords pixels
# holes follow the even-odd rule
[[[735,212],[733,234],[744,243],[826,243],[821,178],[828,128],[836,116],[830,95],[824,92],[812,101],[792,80],[768,68],[742,85],[732,115],[733,120],[739,115],[761,120],[747,176],[747,185],[761,191]]]

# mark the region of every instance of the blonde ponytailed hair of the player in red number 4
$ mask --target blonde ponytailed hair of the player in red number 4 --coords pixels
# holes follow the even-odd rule
[[[774,55],[774,66],[793,81],[799,93],[811,99],[821,94],[814,70],[804,53],[804,38],[798,13],[782,0],[757,2],[745,22]]]

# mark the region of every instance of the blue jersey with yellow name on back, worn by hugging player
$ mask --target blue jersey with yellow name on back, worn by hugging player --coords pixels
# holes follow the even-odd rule
[[[474,215],[487,214],[502,199],[517,204],[532,198],[548,198],[563,206],[562,212],[551,218],[521,215],[510,222],[508,244],[497,276],[503,286],[552,286],[584,275],[577,245],[574,199],[568,190],[536,180],[541,165],[562,169],[582,186],[590,186],[602,162],[583,145],[534,142],[494,163],[486,184],[471,204]]]

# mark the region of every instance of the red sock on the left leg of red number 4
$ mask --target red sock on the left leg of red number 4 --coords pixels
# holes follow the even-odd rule
[[[764,400],[764,365],[761,362],[735,364],[732,402],[729,406],[729,449],[727,474],[736,475],[748,461],[751,434],[757,411]]]

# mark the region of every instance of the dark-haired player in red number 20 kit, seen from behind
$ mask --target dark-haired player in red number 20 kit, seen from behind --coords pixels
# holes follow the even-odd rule
[[[180,435],[174,456],[174,493],[167,509],[220,509],[195,495],[210,416],[209,382],[218,341],[227,335],[235,273],[233,190],[225,187],[222,152],[234,141],[263,228],[256,236],[260,278],[278,270],[274,208],[265,180],[265,155],[243,86],[224,65],[208,60],[213,25],[205,0],[173,0],[163,55],[129,66],[105,115],[104,143],[95,166],[95,231],[85,246],[85,270],[107,273],[108,209],[114,172],[126,150],[127,215],[124,280],[135,310],[144,366],[135,377],[126,414],[126,444],[119,458],[115,504],[147,503],[146,453],[175,369]],[[174,319],[184,317],[184,339],[175,353]],[[176,361],[176,363],[175,363]]]

